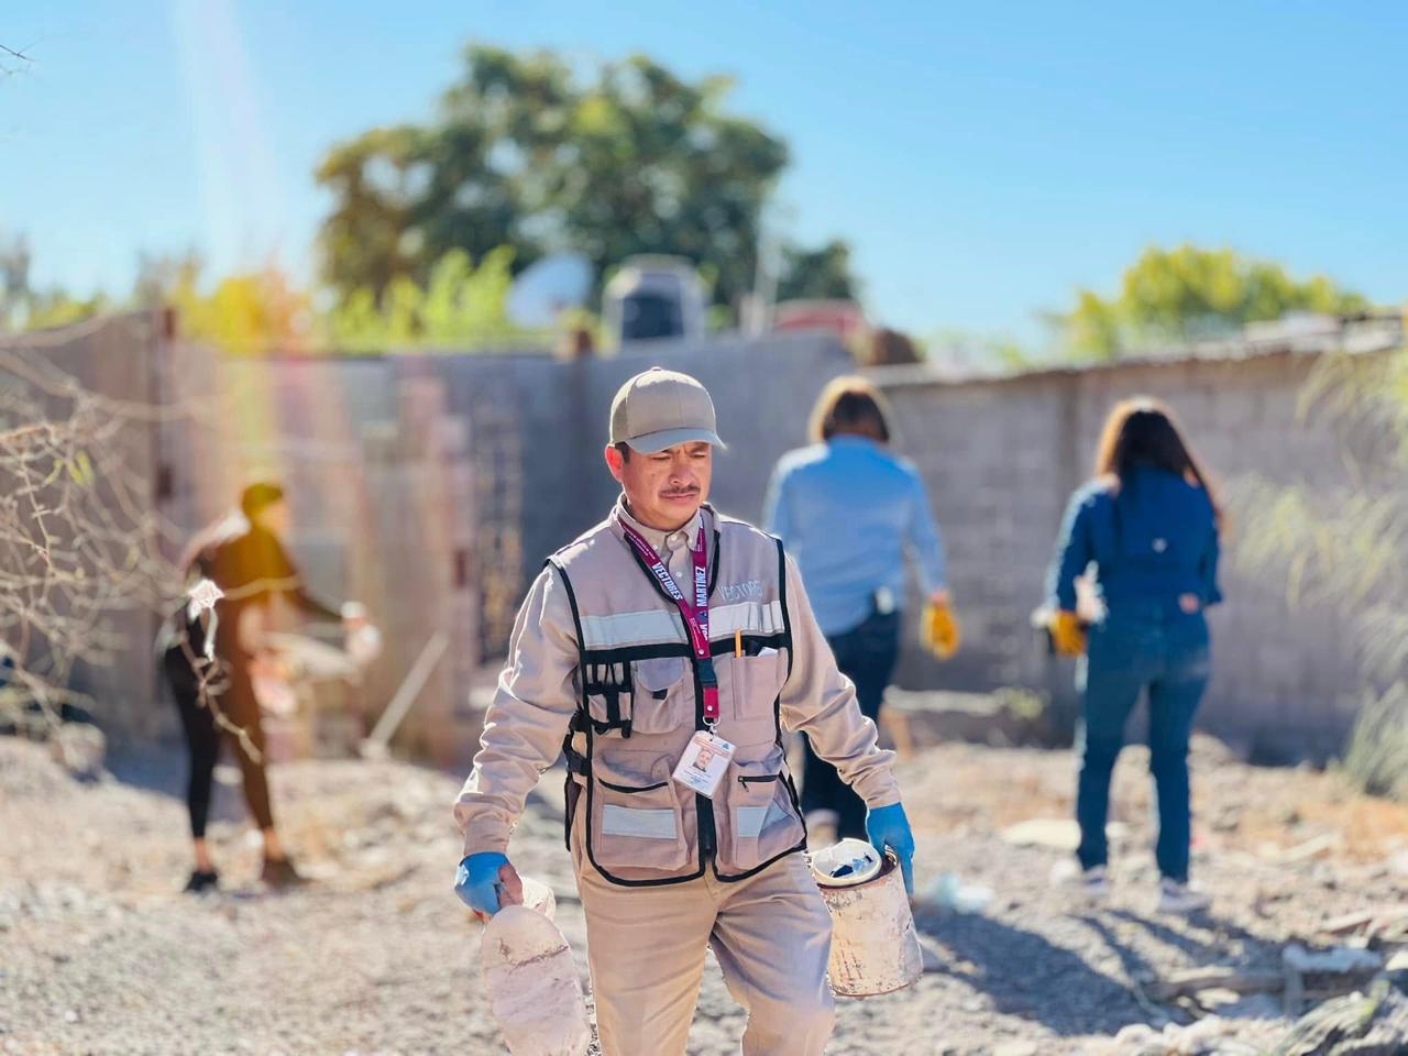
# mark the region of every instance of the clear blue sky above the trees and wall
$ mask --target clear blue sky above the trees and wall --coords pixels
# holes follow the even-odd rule
[[[310,275],[317,159],[428,117],[469,39],[734,75],[791,145],[790,234],[849,239],[872,314],[919,334],[1031,337],[1150,242],[1408,297],[1397,1],[11,3],[0,228],[79,291],[125,291],[139,249]]]

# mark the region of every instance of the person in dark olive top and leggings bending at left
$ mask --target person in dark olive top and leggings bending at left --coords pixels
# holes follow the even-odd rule
[[[242,736],[232,736],[235,756],[244,777],[245,803],[263,835],[262,879],[270,886],[301,880],[279,843],[269,804],[263,727],[252,680],[258,663],[255,628],[276,594],[315,620],[342,620],[348,629],[365,622],[365,617],[360,607],[344,605],[339,612],[308,594],[279,542],[286,531],[283,490],[270,483],[251,484],[241,496],[239,510],[201,531],[182,558],[191,603],[175,615],[175,634],[162,667],[190,750],[186,805],[196,869],[186,884],[187,891],[218,884],[206,843],[206,819],[221,735],[234,734],[232,728],[242,731]],[[200,586],[204,580],[217,590]],[[206,605],[200,604],[201,597]]]

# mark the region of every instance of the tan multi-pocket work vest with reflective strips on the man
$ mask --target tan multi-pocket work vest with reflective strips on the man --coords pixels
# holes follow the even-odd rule
[[[738,749],[712,800],[672,779],[704,729],[679,607],[614,515],[549,558],[580,643],[580,701],[565,745],[569,848],[576,834],[576,852],[617,884],[681,883],[707,867],[743,880],[807,842],[779,717],[791,670],[781,542],[704,510],[717,734]]]

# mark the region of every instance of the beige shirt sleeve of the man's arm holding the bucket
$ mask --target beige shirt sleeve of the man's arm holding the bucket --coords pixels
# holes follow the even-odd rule
[[[790,556],[787,615],[793,670],[781,693],[783,724],[805,732],[812,750],[836,767],[867,807],[898,803],[900,786],[891,773],[894,752],[880,748],[879,731],[860,711],[855,684],[836,667]]]

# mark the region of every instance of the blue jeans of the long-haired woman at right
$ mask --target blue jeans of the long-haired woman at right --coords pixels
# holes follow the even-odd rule
[[[1201,612],[1126,604],[1091,628],[1084,662],[1084,710],[1076,734],[1080,786],[1076,818],[1084,869],[1102,866],[1110,849],[1110,776],[1125,742],[1125,722],[1149,693],[1149,770],[1157,786],[1159,872],[1188,879],[1188,738],[1208,684],[1211,650]]]

